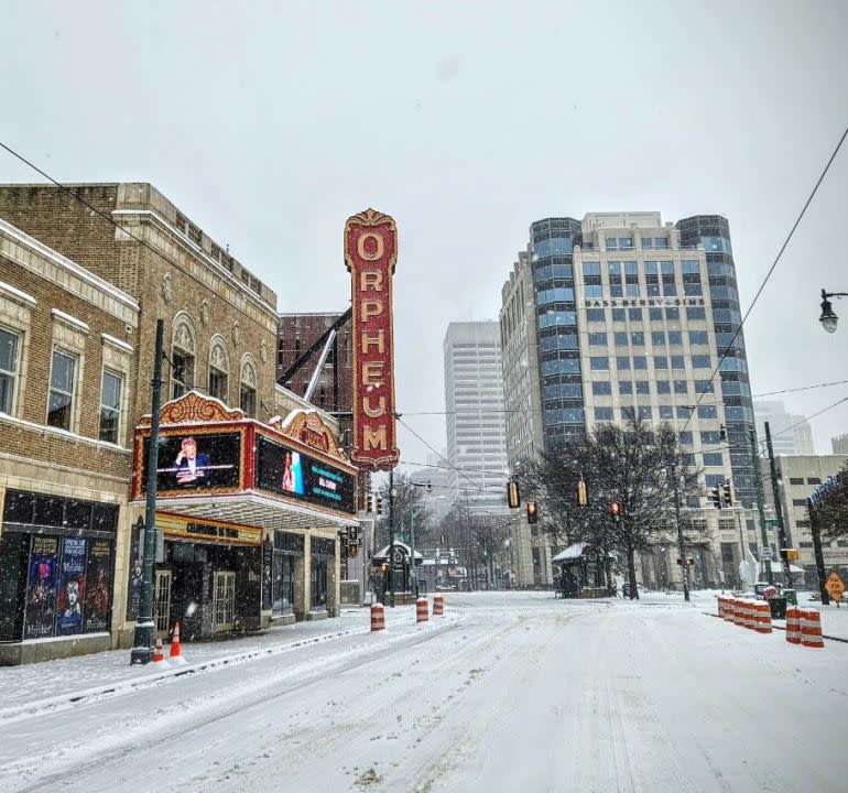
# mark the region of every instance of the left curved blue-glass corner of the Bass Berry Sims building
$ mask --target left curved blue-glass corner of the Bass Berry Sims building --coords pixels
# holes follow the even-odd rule
[[[586,432],[572,258],[581,240],[583,226],[574,218],[530,227],[546,448]]]

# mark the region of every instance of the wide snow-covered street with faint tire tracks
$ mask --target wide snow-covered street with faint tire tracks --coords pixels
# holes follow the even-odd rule
[[[387,609],[370,634],[362,610],[62,708],[20,705],[96,659],[0,670],[0,790],[848,790],[848,644],[794,647],[714,605],[452,594],[438,622]]]

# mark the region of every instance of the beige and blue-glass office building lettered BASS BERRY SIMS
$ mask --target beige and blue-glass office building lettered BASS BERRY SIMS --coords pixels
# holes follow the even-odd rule
[[[664,224],[660,213],[539,220],[502,297],[507,399],[528,410],[508,425],[511,466],[528,453],[522,433],[552,448],[634,411],[676,424],[705,488],[732,474],[739,500],[753,502],[741,332],[710,381],[741,323],[727,220]]]

